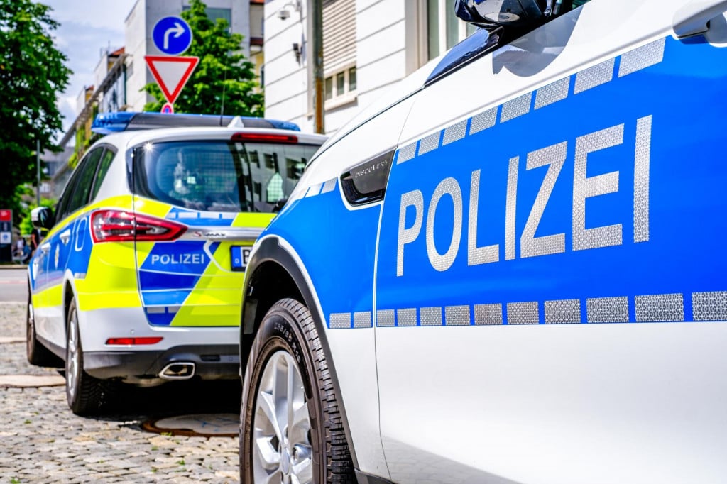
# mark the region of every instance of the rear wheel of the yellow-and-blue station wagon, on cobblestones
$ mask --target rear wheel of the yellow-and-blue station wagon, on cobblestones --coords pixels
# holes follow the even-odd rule
[[[74,414],[99,414],[113,400],[114,382],[97,379],[84,371],[76,299],[68,305],[65,344],[65,397]]]

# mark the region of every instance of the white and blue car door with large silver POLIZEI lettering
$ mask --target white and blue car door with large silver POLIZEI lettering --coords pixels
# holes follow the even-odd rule
[[[672,37],[707,4],[592,0],[417,96],[375,275],[394,482],[723,478],[724,17]]]

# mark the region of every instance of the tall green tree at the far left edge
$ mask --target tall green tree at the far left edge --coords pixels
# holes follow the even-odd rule
[[[67,58],[55,47],[51,8],[0,0],[0,208],[22,213],[16,187],[36,179],[36,140],[53,149],[62,129],[57,94],[68,85]]]

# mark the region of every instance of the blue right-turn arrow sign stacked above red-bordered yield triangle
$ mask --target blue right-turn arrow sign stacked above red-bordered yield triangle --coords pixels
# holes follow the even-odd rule
[[[164,17],[154,25],[154,45],[166,55],[146,55],[144,60],[166,98],[162,113],[174,113],[174,101],[199,63],[199,57],[181,57],[192,43],[192,29],[181,17]]]

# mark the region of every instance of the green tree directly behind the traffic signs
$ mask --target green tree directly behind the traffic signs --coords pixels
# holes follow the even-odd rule
[[[243,36],[230,33],[227,20],[212,22],[201,0],[192,0],[182,17],[192,29],[192,44],[185,55],[199,57],[199,64],[174,102],[176,113],[224,113],[236,116],[262,116],[263,98],[257,87],[254,65],[240,50]],[[144,106],[146,111],[160,111],[166,100],[156,84],[142,88],[156,98]]]

